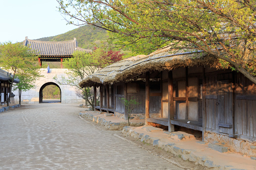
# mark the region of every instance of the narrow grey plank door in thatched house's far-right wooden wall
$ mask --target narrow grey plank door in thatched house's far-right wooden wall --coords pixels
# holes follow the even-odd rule
[[[232,73],[218,75],[217,94],[218,126],[221,133],[233,134]]]

